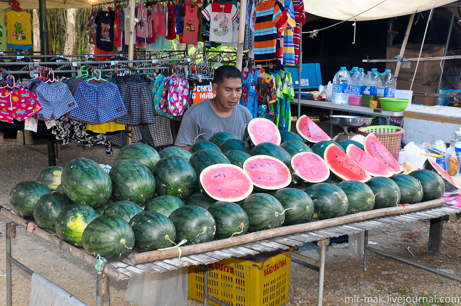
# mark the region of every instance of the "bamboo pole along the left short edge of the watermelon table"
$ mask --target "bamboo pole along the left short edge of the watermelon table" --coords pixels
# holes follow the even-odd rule
[[[19,225],[20,227],[23,227],[27,229],[27,225],[31,224],[28,221],[24,220],[23,218],[19,217],[18,215],[12,213],[8,209],[6,209],[3,206],[0,206],[0,214],[7,217],[9,220],[14,222],[15,224]],[[33,224],[33,223],[32,223]],[[77,249],[76,247],[71,246],[70,244],[62,241],[61,239],[51,235],[50,233],[40,229],[36,224],[33,224],[34,229],[32,230],[32,233],[42,239],[44,239],[46,242],[52,244],[55,247],[58,247],[60,250],[78,258],[83,261],[85,261],[87,264],[92,265],[93,267],[97,263],[97,259],[89,254],[87,254],[84,251],[81,251]],[[109,266],[107,264],[102,265],[101,267],[101,272],[103,274],[108,275],[109,277],[112,277],[116,280],[120,280],[120,275],[121,273],[117,271],[112,266]]]

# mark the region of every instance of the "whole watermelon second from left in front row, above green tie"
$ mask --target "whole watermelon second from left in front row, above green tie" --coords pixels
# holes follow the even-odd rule
[[[176,230],[173,222],[155,211],[143,211],[130,220],[135,235],[134,249],[148,252],[168,248],[175,241]]]

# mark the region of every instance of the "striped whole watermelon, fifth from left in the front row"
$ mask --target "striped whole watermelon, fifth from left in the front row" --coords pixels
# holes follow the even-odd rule
[[[285,221],[282,204],[267,193],[254,193],[243,201],[243,210],[248,215],[248,232],[281,227]]]

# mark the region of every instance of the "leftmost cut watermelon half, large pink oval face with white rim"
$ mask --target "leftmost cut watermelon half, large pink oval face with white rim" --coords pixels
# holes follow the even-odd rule
[[[252,179],[242,168],[231,164],[215,164],[200,173],[203,195],[216,201],[238,202],[252,194]]]

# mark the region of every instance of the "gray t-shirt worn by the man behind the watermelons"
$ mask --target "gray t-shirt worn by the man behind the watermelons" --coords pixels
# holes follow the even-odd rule
[[[202,133],[205,135],[201,135],[197,141],[208,140],[218,132],[231,132],[243,140],[245,125],[252,119],[248,108],[240,104],[235,105],[232,115],[225,118],[213,111],[209,100],[198,102],[185,112],[175,145],[193,145],[195,138]]]

